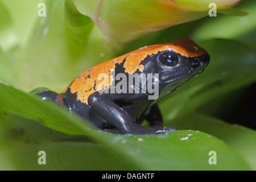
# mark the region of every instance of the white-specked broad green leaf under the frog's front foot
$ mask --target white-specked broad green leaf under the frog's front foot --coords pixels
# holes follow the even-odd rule
[[[181,130],[168,135],[120,136],[113,147],[121,146],[147,170],[236,170],[246,164],[215,137],[198,131]],[[217,165],[209,164],[209,152],[216,151]],[[231,164],[231,165],[230,165]],[[235,164],[236,166],[233,166]]]

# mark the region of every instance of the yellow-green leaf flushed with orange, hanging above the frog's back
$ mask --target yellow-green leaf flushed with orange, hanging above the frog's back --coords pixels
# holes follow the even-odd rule
[[[144,35],[163,30],[185,22],[191,22],[208,15],[209,4],[215,3],[218,12],[241,15],[243,11],[231,10],[237,1],[197,0],[74,0],[77,9],[90,16],[113,47],[141,38]],[[230,13],[231,12],[231,13]],[[118,17],[118,18],[116,18]]]

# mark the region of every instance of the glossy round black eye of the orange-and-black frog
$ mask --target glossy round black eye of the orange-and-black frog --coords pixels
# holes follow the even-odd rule
[[[158,60],[168,67],[175,67],[179,63],[179,57],[175,52],[164,51],[158,56]]]

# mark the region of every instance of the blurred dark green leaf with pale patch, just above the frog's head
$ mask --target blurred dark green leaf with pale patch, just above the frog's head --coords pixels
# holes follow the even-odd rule
[[[255,12],[256,1],[242,1],[237,5],[238,8],[248,12],[246,16],[226,16],[218,14],[217,16],[207,16],[193,22],[179,24],[166,30],[155,32],[136,40],[127,47],[122,53],[133,51],[134,49],[145,45],[156,43],[167,43],[179,38],[189,38],[196,43],[210,39],[232,39],[239,40],[256,49]]]

